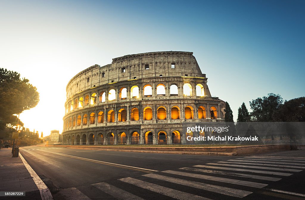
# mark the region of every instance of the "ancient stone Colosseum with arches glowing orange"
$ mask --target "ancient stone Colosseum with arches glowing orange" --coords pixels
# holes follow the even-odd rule
[[[125,55],[93,65],[66,86],[63,144],[188,144],[187,126],[224,123],[192,52]],[[196,135],[197,134],[197,135]],[[194,133],[211,135],[211,132]]]

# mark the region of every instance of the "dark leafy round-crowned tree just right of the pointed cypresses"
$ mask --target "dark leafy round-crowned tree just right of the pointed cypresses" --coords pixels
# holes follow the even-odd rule
[[[249,103],[252,109],[251,120],[267,122],[274,121],[274,114],[281,107],[283,99],[279,94],[270,93]]]

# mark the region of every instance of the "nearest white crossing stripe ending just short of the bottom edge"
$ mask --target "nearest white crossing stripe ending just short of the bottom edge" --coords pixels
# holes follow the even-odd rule
[[[163,176],[163,175],[159,175],[159,174],[144,174],[142,176],[155,178],[155,179],[162,180],[162,181],[168,181],[170,183],[185,185],[185,186],[192,187],[192,188],[198,188],[198,189],[206,190],[206,191],[210,191],[210,192],[216,192],[216,193],[223,194],[223,195],[238,197],[238,198],[243,198],[249,194],[252,194],[252,192],[249,192],[249,191],[227,188],[227,187],[211,185],[211,184],[206,184],[206,183],[199,183],[196,181],[188,181],[188,180],[184,180],[184,179],[180,179],[180,178],[168,177],[168,176]]]

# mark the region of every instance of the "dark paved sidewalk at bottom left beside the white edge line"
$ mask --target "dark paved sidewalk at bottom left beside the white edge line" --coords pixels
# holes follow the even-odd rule
[[[12,157],[12,148],[0,150],[0,191],[23,191],[25,196],[0,197],[2,200],[41,200],[33,177],[20,157]]]

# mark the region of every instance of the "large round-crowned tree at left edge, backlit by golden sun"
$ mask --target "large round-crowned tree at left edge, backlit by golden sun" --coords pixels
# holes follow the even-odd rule
[[[0,68],[0,130],[10,124],[13,114],[35,107],[39,93],[28,79],[20,79],[20,74]]]

